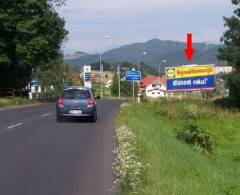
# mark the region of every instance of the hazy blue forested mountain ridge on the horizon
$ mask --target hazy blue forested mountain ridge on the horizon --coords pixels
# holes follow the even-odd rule
[[[186,43],[180,41],[150,39],[146,42],[136,42],[109,50],[102,54],[102,59],[108,63],[128,61],[129,63],[137,64],[141,53],[147,52],[147,55],[140,56],[140,61],[152,67],[158,67],[163,60],[167,60],[167,66],[189,64],[184,55],[185,47]],[[193,43],[193,47],[196,52],[191,64],[226,65],[226,62],[217,59],[218,50],[223,45],[199,42]],[[81,55],[75,55],[75,58],[69,56],[65,58],[65,63],[79,66],[99,61],[99,54],[79,53]]]

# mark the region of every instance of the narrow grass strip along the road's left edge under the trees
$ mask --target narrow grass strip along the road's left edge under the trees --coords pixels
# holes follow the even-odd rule
[[[27,98],[0,98],[0,108],[22,106],[36,103],[37,103],[36,100],[29,100]]]

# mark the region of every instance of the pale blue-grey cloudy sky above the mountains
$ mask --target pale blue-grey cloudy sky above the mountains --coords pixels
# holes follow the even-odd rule
[[[66,0],[58,12],[69,31],[65,54],[90,54],[150,39],[220,43],[231,0]],[[110,38],[106,39],[105,36]]]

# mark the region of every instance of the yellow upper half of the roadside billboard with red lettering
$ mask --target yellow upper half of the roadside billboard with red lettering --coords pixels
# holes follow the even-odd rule
[[[180,66],[166,69],[168,79],[210,76],[214,74],[214,65]]]

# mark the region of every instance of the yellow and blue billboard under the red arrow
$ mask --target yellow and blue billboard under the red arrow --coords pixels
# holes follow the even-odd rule
[[[215,87],[214,65],[191,65],[165,69],[168,91],[211,90]]]

